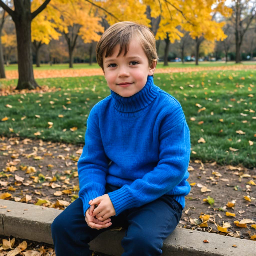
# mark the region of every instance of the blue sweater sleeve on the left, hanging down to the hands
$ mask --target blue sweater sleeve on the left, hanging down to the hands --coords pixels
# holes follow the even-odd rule
[[[104,194],[108,173],[109,158],[103,148],[95,108],[96,105],[87,119],[85,145],[77,163],[80,188],[78,196],[83,202],[84,216],[90,207],[89,201]]]

